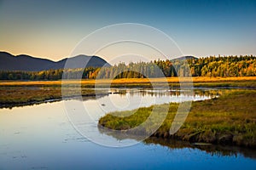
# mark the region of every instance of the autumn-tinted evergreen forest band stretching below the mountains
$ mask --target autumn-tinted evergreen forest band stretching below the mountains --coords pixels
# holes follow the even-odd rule
[[[153,60],[119,63],[102,68],[59,69],[49,71],[0,71],[0,80],[60,80],[138,77],[253,77],[256,57],[209,56],[205,58]]]

